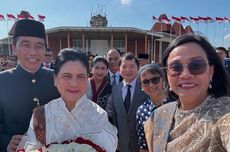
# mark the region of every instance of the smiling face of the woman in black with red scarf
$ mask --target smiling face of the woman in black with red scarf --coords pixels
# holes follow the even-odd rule
[[[103,62],[97,62],[92,68],[93,77],[95,80],[103,80],[108,73],[108,69]]]

